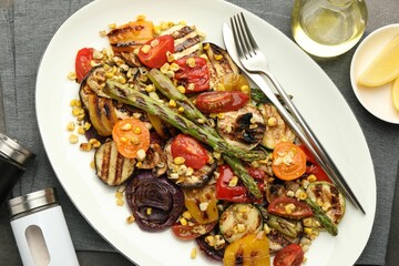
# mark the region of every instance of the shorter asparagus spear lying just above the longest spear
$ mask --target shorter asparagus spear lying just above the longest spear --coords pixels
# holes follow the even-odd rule
[[[214,127],[212,127],[209,121],[205,117],[205,115],[197,110],[195,104],[184,95],[173,84],[173,82],[164,75],[160,70],[152,69],[149,71],[149,78],[154,83],[156,89],[164,94],[166,98],[176,101],[178,105],[184,108],[184,114],[187,119],[202,126],[205,126],[209,133],[213,135],[218,135]]]

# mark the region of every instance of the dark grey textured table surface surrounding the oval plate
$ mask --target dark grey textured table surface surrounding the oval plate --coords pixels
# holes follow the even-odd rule
[[[24,174],[23,182],[16,186],[12,196],[45,186],[59,187],[61,204],[81,265],[132,265],[90,227],[60,187],[43,151],[34,114],[34,80],[40,58],[61,23],[89,2],[91,1],[0,0],[0,131],[16,137],[38,155]],[[289,17],[294,1],[229,2],[252,11],[290,37]],[[369,20],[366,35],[382,25],[399,23],[398,0],[370,0],[367,4]],[[376,219],[357,265],[399,265],[399,205],[395,205],[392,209],[399,158],[399,126],[376,119],[360,106],[349,81],[354,51],[352,49],[334,60],[317,62],[352,109],[375,163],[378,197]],[[41,178],[34,178],[35,176]],[[393,226],[392,234],[389,235],[391,219]],[[0,265],[21,265],[6,204],[0,208]]]

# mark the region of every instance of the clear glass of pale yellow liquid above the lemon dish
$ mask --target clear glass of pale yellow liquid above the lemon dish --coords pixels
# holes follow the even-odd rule
[[[295,0],[293,37],[313,55],[337,57],[360,40],[367,16],[364,0]]]

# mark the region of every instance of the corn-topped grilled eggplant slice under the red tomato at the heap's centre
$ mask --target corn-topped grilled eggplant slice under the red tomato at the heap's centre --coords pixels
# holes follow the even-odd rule
[[[167,177],[184,188],[202,188],[213,177],[217,166],[217,162],[208,162],[200,170],[193,170],[183,165],[176,165],[173,163],[172,146],[173,140],[168,141],[164,147],[166,162],[167,162]],[[213,157],[212,153],[207,151],[208,156]]]

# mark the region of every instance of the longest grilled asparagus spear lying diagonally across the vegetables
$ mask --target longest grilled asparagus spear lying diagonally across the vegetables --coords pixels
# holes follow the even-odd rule
[[[111,80],[108,80],[106,84],[108,86],[105,86],[104,92],[111,98],[158,116],[161,120],[170,123],[183,133],[192,135],[196,140],[208,144],[215,151],[237,156],[244,161],[257,161],[266,157],[266,153],[264,151],[246,151],[229,145],[221,136],[211,134],[203,126],[193,123],[188,119],[175,113],[172,109],[151,99],[150,96],[129,88],[127,84],[120,84]]]

